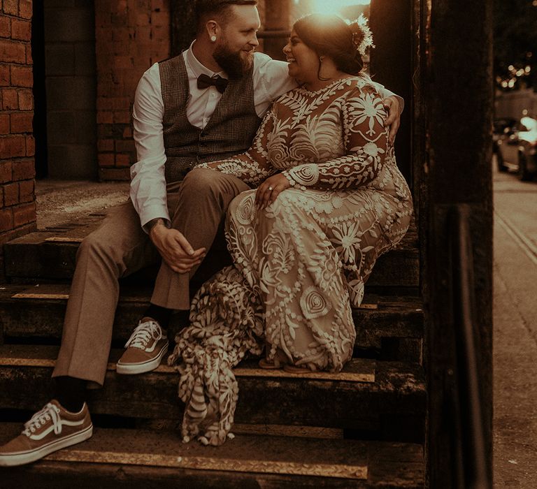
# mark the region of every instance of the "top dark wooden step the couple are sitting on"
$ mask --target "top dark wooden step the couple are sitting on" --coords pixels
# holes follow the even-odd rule
[[[6,243],[3,246],[6,277],[12,280],[70,279],[80,241],[99,226],[101,219],[102,214],[90,214]],[[368,286],[417,287],[419,268],[417,231],[413,223],[401,243],[378,259]]]

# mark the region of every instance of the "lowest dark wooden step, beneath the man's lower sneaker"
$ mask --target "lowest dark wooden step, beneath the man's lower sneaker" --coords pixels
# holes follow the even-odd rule
[[[0,443],[20,425],[0,423]],[[238,435],[219,447],[176,432],[99,429],[27,467],[0,469],[2,487],[424,488],[420,444]],[[7,481],[8,485],[5,485]]]

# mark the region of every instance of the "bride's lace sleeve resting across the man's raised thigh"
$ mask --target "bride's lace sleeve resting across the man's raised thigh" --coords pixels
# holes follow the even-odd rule
[[[213,168],[228,175],[235,175],[250,187],[257,187],[266,178],[276,173],[276,169],[268,161],[266,151],[267,141],[273,128],[273,118],[274,112],[269,110],[247,152],[222,161],[201,163],[196,168]]]

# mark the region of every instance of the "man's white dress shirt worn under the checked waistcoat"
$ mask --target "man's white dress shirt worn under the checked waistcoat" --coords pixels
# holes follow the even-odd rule
[[[213,86],[199,89],[197,78],[202,73],[208,76],[217,74],[224,78],[227,78],[227,75],[222,71],[215,73],[203,66],[194,56],[192,45],[182,53],[182,57],[185,59],[189,82],[187,117],[190,124],[203,129],[213,115],[222,94]],[[252,78],[255,111],[259,117],[264,116],[275,98],[296,87],[295,80],[289,78],[285,61],[275,61],[260,52],[254,53]],[[394,95],[382,85],[377,83],[374,85],[378,87],[383,98]],[[399,98],[399,103],[402,108],[402,98]],[[130,196],[140,216],[141,225],[145,226],[157,217],[170,219],[166,205],[166,179],[164,177],[164,164],[166,163],[162,133],[164,101],[158,63],[145,71],[138,82],[132,117],[138,161],[131,166]]]

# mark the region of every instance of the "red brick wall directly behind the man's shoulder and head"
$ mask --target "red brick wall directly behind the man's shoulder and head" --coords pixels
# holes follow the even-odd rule
[[[95,0],[95,38],[99,178],[129,180],[134,92],[143,72],[169,57],[169,0]]]

